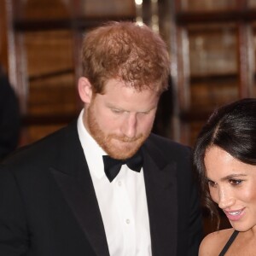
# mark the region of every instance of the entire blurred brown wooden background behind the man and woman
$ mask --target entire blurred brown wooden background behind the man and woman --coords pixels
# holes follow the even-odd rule
[[[144,22],[166,41],[170,89],[154,132],[193,147],[214,108],[256,96],[256,0],[1,0],[0,62],[20,106],[18,147],[77,117],[82,38],[108,20]]]

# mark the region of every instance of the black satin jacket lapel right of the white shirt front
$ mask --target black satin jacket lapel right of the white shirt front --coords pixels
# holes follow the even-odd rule
[[[153,256],[177,255],[177,170],[156,148],[143,150]]]

